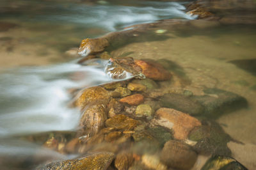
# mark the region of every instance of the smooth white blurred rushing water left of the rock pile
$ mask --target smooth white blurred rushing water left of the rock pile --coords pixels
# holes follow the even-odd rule
[[[24,67],[0,75],[0,137],[15,134],[74,130],[80,112],[68,107],[70,88],[111,82],[104,72],[107,61],[90,65],[65,63]],[[129,77],[127,77],[129,78]]]

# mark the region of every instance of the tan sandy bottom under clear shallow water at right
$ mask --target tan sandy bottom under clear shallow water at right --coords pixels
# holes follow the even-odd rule
[[[248,109],[225,114],[217,121],[227,134],[244,143],[228,144],[232,156],[248,169],[255,169],[256,91],[252,86],[256,84],[256,77],[228,63],[236,59],[256,59],[255,30],[250,27],[215,27],[197,31],[167,31],[165,34],[170,38],[131,43],[111,54],[129,54],[138,59],[170,59],[184,69],[191,80],[191,87],[220,88],[245,97],[249,103]]]

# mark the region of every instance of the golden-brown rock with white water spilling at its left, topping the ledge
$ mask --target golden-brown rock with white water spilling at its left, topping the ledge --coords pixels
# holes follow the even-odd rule
[[[88,56],[88,54],[97,54],[102,52],[108,45],[106,38],[86,38],[81,42],[78,54],[83,57]]]

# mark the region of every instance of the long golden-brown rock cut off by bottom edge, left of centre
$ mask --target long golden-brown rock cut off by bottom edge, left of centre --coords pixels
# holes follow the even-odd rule
[[[36,169],[107,169],[114,157],[115,154],[111,152],[92,153],[81,158],[53,162]]]

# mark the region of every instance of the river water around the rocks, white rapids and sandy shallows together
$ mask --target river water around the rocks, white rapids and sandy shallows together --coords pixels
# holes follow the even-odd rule
[[[46,150],[22,137],[76,130],[80,112],[69,107],[70,89],[113,81],[104,73],[107,61],[96,59],[79,65],[78,56],[68,52],[79,47],[83,38],[161,19],[186,19],[192,20],[194,27],[156,28],[152,31],[155,36],[113,50],[111,56],[170,59],[182,68],[195,88],[220,88],[245,97],[248,109],[225,114],[217,121],[227,134],[244,143],[229,144],[234,157],[250,169],[256,167],[255,26],[193,22],[196,17],[186,14],[184,4],[2,0],[0,157],[8,155],[9,161],[17,164],[24,155],[35,157],[35,153],[37,164],[49,157],[74,157]],[[5,161],[0,160],[4,169],[15,167]],[[15,168],[26,169],[26,163]]]

